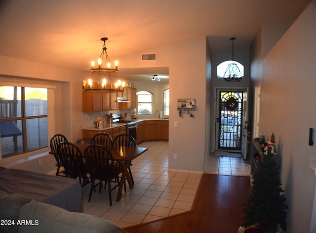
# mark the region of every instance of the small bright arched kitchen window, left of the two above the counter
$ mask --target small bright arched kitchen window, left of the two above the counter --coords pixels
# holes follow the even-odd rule
[[[153,115],[154,94],[147,91],[140,91],[136,95],[138,115]]]

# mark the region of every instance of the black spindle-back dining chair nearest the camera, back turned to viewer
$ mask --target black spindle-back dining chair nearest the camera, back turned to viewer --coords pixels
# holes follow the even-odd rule
[[[119,184],[118,174],[120,170],[114,165],[111,152],[102,145],[89,145],[84,150],[84,158],[88,164],[91,177],[88,202],[91,200],[92,190],[95,191],[95,187],[99,185],[99,192],[101,192],[102,182],[105,181],[104,188],[108,184],[110,205],[112,205],[111,192]],[[99,183],[95,184],[95,180],[99,180]],[[111,188],[111,182],[117,182],[118,184]]]

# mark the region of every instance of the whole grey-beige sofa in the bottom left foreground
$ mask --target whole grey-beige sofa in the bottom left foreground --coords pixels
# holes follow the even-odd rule
[[[0,191],[0,233],[43,232],[124,233],[105,219]]]

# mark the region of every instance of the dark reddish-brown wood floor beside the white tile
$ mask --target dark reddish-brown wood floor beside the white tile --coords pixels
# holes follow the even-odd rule
[[[193,211],[124,228],[128,233],[237,233],[249,177],[203,174]]]

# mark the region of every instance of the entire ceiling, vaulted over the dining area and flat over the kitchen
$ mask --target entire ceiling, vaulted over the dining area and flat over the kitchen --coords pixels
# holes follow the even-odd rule
[[[249,48],[262,23],[309,0],[1,0],[0,55],[89,70],[108,37],[110,58],[207,36],[212,53]],[[168,68],[122,69],[130,79]],[[133,78],[135,80],[135,78]]]

